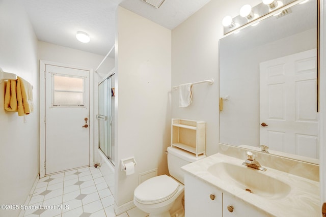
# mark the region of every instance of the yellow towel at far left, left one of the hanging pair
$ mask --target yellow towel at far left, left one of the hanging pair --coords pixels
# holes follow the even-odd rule
[[[8,80],[5,93],[5,110],[17,111],[16,80]]]

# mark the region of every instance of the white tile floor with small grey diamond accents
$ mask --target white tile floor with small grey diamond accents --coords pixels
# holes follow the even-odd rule
[[[105,177],[105,180],[99,168],[87,167],[41,178],[29,203],[31,209],[26,209],[24,216],[116,217],[113,188],[110,189],[110,183],[107,183],[110,179]],[[146,216],[148,214],[137,207],[118,215]]]

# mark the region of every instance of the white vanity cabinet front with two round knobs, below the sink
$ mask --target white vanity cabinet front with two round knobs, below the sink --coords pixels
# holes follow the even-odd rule
[[[238,198],[224,194],[213,185],[185,174],[184,206],[186,217],[267,217]]]

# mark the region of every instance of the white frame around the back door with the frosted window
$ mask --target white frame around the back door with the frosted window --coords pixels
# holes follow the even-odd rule
[[[81,69],[87,70],[90,72],[89,74],[89,129],[90,129],[90,136],[89,136],[89,165],[93,165],[93,126],[94,126],[94,118],[93,118],[93,95],[94,95],[94,88],[93,88],[93,69],[80,67],[80,66],[73,66],[63,63],[57,63],[53,61],[47,60],[40,60],[40,95],[39,95],[39,103],[40,103],[40,162],[39,162],[39,169],[40,169],[40,178],[45,176],[45,65],[54,65],[60,67],[67,67],[67,68],[74,68],[74,69]]]

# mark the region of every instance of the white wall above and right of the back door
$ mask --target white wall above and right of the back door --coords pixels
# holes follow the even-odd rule
[[[92,68],[94,71],[103,60],[104,56],[80,51],[68,47],[63,47],[46,42],[38,42],[38,58],[41,60],[53,61],[72,66]],[[114,58],[107,57],[98,70],[98,73],[93,72],[93,153],[94,163],[97,162],[98,148],[98,122],[96,114],[98,113],[98,83],[114,68]]]

